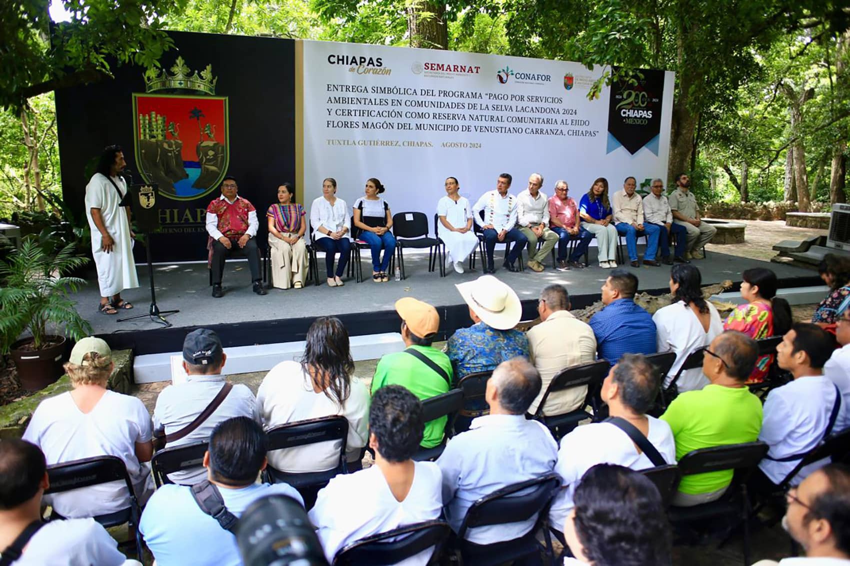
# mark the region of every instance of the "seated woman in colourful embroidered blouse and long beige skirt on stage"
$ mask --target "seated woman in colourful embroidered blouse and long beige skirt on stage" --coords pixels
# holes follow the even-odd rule
[[[304,207],[295,200],[292,184],[277,188],[277,201],[269,207],[271,284],[278,289],[300,289],[307,279],[307,244],[304,242]]]

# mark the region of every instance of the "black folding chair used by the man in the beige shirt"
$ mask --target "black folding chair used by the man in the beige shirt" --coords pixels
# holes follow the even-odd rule
[[[540,405],[537,405],[537,412],[534,416],[536,421],[542,422],[549,431],[553,434],[556,440],[569,433],[572,429],[579,425],[579,422],[587,418],[595,418],[598,415],[600,404],[597,400],[598,389],[602,388],[602,382],[605,376],[608,375],[610,365],[604,359],[592,362],[590,364],[574,365],[554,376],[549,382],[549,387],[546,393],[540,400]],[[546,406],[549,395],[564,389],[587,387],[585,400],[576,410],[571,410],[569,413],[562,415],[544,415],[543,408]],[[593,412],[588,413],[585,410],[587,405],[591,405]]]

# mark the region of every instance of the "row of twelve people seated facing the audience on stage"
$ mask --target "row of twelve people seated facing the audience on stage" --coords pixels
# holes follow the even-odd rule
[[[528,246],[528,266],[534,271],[545,269],[544,261],[554,246],[558,245],[558,269],[581,268],[582,255],[587,252],[592,239],[598,240],[598,261],[603,268],[615,268],[616,247],[619,235],[626,236],[626,247],[632,267],[638,267],[637,239],[647,237],[643,262],[659,266],[656,254],[660,251],[665,263],[674,258],[689,263],[690,258],[702,258],[700,250],[717,232],[717,229],[700,219],[700,209],[690,192],[688,175],[677,176],[677,189],[669,198],[664,195],[664,183],[656,178],[651,184],[651,194],[643,199],[636,193],[637,181],[627,177],[623,190],[609,199],[608,179],[598,178],[586,195],[576,205],[569,196],[569,185],[558,180],[551,198],[541,192],[543,178],[532,173],[528,188],[511,195],[513,177],[501,173],[496,190],[484,193],[474,206],[460,195],[460,184],[454,177],[445,179],[446,196],[437,203],[436,235],[447,248],[446,265],[453,265],[463,273],[463,263],[479,245],[473,224],[481,230],[484,240],[484,273],[495,273],[494,249],[496,243],[513,244],[504,266],[519,271],[516,260]],[[326,178],[322,182],[322,196],[310,207],[311,235],[315,245],[325,252],[328,286],[343,286],[342,279],[348,262],[352,230],[371,249],[372,280],[386,282],[388,266],[396,246],[393,232],[393,214],[388,202],[381,196],[385,187],[377,178],[365,184],[365,195],[354,202],[349,210],[343,199],[337,198],[337,181]],[[251,271],[254,291],[265,294],[261,275],[259,251],[253,238],[259,222],[256,209],[246,199],[237,195],[238,186],[233,177],[226,177],[221,185],[221,195],[207,207],[207,233],[210,237],[210,266],[212,268],[212,296],[222,297],[221,286],[224,260],[235,250],[244,250]],[[309,261],[304,235],[307,231],[304,207],[294,201],[292,184],[281,184],[278,202],[269,207],[266,218],[269,229],[269,247],[272,263],[272,285],[281,289],[301,288],[307,277]],[[350,214],[349,214],[350,212]],[[354,224],[354,225],[352,225]],[[675,256],[670,252],[672,236],[676,236]],[[567,258],[570,241],[578,244]],[[541,246],[538,249],[538,241]],[[383,251],[383,255],[381,252]],[[340,259],[334,269],[336,254]]]

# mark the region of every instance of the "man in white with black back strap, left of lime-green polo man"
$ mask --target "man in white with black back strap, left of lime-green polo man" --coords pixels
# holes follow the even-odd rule
[[[611,368],[602,384],[609,419],[577,427],[561,439],[555,472],[563,481],[562,490],[549,510],[549,524],[554,529],[563,527],[574,506],[576,486],[597,464],[642,470],[676,463],[670,425],[646,414],[658,396],[660,382],[655,366],[642,354],[625,354]],[[636,433],[639,436],[634,436]]]

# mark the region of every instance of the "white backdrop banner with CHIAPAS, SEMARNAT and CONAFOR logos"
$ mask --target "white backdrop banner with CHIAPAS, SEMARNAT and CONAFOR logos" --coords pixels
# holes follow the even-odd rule
[[[547,196],[563,178],[576,202],[598,177],[611,191],[629,175],[666,178],[669,71],[588,100],[602,69],[566,61],[304,41],[302,64],[308,207],[326,177],[349,208],[378,178],[394,213],[426,212],[429,225],[449,176],[473,204],[500,173],[514,195],[531,173]]]

